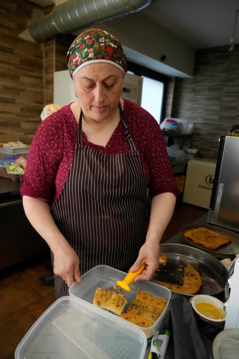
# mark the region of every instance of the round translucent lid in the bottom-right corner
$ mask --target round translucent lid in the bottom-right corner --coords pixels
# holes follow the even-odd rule
[[[213,342],[214,359],[239,358],[239,329],[226,329],[220,332]]]

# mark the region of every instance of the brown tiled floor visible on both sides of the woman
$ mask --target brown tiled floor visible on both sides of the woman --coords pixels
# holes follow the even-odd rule
[[[207,211],[179,203],[162,243]],[[14,359],[17,344],[55,300],[54,288],[39,284],[39,277],[50,274],[44,267],[49,260],[50,256],[45,256],[0,271],[0,359]]]

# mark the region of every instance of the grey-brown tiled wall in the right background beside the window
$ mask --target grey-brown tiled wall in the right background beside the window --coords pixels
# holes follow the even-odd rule
[[[217,158],[220,136],[239,124],[239,45],[197,51],[194,76],[170,79],[168,95],[166,116],[193,122],[191,147]]]

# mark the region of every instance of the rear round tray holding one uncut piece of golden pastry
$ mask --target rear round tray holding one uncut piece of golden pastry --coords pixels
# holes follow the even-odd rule
[[[180,229],[181,241],[218,259],[234,259],[239,253],[239,234],[211,224],[186,224]]]

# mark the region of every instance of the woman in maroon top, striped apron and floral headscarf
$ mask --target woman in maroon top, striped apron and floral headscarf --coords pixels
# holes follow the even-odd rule
[[[145,263],[134,281],[150,280],[178,195],[159,125],[120,98],[127,62],[119,41],[88,29],[66,62],[78,100],[39,126],[21,189],[25,213],[52,251],[56,298],[99,264],[134,272]]]

